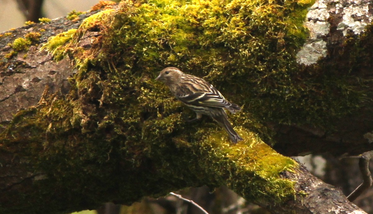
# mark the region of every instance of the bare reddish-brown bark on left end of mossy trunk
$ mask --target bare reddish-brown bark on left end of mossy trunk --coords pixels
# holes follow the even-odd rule
[[[84,19],[92,13],[81,15]],[[41,32],[36,44],[27,51],[22,51],[11,60],[2,60],[0,70],[0,122],[8,123],[18,110],[35,106],[43,95],[46,86],[50,93],[69,91],[68,77],[73,74],[73,65],[63,59],[56,63],[47,51],[40,51],[41,44],[48,38],[72,28],[78,28],[80,22],[66,18],[55,19],[49,23],[31,24],[13,31],[4,32],[8,36],[1,37],[0,51],[9,53],[9,43],[16,38],[25,37],[29,32]],[[45,31],[43,31],[45,30]],[[4,35],[4,34],[3,34]],[[26,55],[25,55],[26,54]],[[24,57],[27,56],[27,57]]]

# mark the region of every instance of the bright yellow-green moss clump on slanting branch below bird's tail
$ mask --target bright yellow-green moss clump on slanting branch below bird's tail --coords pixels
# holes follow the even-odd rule
[[[298,164],[291,158],[277,154],[260,138],[247,130],[238,127],[238,133],[245,139],[234,147],[226,144],[224,132],[216,132],[204,139],[204,144],[219,148],[210,151],[211,169],[209,173],[217,175],[228,187],[249,201],[273,200],[281,203],[289,197],[294,197],[294,181],[280,178],[282,171],[288,171]],[[227,163],[229,162],[229,163]],[[222,166],[219,166],[222,164]],[[219,169],[226,169],[228,171]],[[280,191],[279,191],[280,190]]]

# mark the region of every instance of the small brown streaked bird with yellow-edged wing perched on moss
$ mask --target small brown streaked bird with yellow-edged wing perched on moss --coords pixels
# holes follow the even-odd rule
[[[164,82],[178,100],[197,113],[193,120],[200,119],[202,114],[210,116],[226,130],[233,143],[243,140],[233,129],[224,110],[234,114],[241,108],[228,102],[213,85],[176,67],[166,67],[156,80]]]

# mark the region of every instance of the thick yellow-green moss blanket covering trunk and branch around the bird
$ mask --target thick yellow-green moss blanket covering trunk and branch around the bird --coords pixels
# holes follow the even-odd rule
[[[368,92],[349,83],[356,68],[351,65],[359,58],[346,60],[350,73],[335,72],[338,64],[312,70],[297,64],[295,54],[308,33],[302,21],[311,4],[121,1],[117,10],[95,13],[43,45],[55,60],[68,56],[78,67],[72,88],[66,96],[46,97],[21,111],[8,130],[14,138],[7,145],[34,145],[29,152],[37,158],[35,171],[48,171],[51,187],[59,192],[70,188],[73,197],[61,200],[66,206],[76,205],[81,192],[95,192],[97,198],[85,199],[92,204],[107,201],[97,192],[107,193],[108,186],[116,190],[109,198],[130,203],[203,184],[226,184],[253,201],[285,202],[295,195],[294,183],[279,174],[297,164],[263,143],[274,136],[266,124],[327,127],[367,105],[361,97]],[[95,36],[89,48],[80,47],[90,31]],[[370,44],[370,35],[362,42]],[[345,44],[351,53],[360,51],[361,57],[373,50],[356,41]],[[362,58],[370,62],[367,56]],[[207,117],[186,122],[195,114],[153,81],[166,66],[203,77],[242,106],[229,118],[245,141],[230,145],[224,130]],[[26,130],[31,135],[23,139]],[[90,179],[104,185],[87,189]]]

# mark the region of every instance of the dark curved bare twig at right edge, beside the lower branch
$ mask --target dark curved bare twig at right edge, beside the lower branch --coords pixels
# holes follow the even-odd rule
[[[369,171],[369,161],[373,156],[373,151],[364,152],[359,156],[359,168],[361,176],[363,176],[363,183],[361,183],[349,196],[347,199],[349,201],[354,201],[359,195],[365,192],[372,186],[372,176]]]

